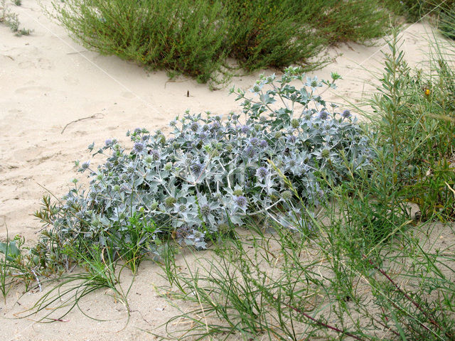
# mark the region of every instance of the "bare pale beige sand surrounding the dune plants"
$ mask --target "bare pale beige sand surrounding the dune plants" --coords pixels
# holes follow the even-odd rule
[[[49,0],[43,0],[49,6]],[[28,241],[38,239],[41,224],[32,213],[39,209],[43,195],[62,197],[73,178],[74,161],[90,158],[87,146],[104,144],[115,137],[125,144],[128,129],[162,129],[177,114],[210,111],[228,114],[238,110],[229,87],[250,88],[260,72],[237,77],[228,87],[210,91],[186,77],[168,80],[166,72],[148,72],[134,63],[114,56],[87,51],[71,40],[58,23],[45,15],[35,0],[23,0],[18,13],[30,36],[16,37],[0,26],[0,240],[21,234]],[[417,23],[403,33],[403,50],[411,65],[425,60],[428,50],[427,24]],[[370,72],[380,67],[380,47],[350,43],[328,50],[336,61],[323,70],[311,72],[320,79],[338,72],[338,90],[325,94],[329,101],[343,103],[360,98]],[[266,74],[277,70],[262,70]],[[189,92],[190,96],[187,97]],[[354,103],[356,103],[354,101]],[[164,284],[159,266],[144,264],[129,294],[132,315],[127,323],[124,306],[105,291],[85,301],[85,309],[99,322],[75,310],[64,322],[34,323],[15,319],[14,313],[29,308],[41,296],[34,289],[21,296],[14,287],[7,303],[0,303],[2,340],[149,340],[142,330],[155,328],[176,312],[154,291]],[[125,283],[131,279],[126,276]],[[17,301],[17,298],[21,298]]]

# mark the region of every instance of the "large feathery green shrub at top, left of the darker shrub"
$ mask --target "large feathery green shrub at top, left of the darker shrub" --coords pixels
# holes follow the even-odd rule
[[[225,58],[223,8],[208,0],[70,0],[53,6],[87,48],[206,82]]]

